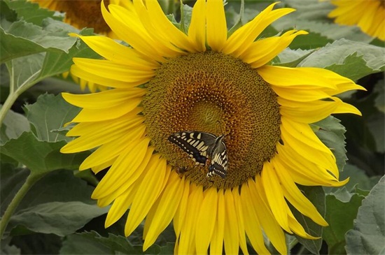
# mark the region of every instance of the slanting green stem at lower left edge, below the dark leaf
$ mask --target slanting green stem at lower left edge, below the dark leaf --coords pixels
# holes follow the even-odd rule
[[[6,209],[6,212],[4,212],[3,217],[1,217],[0,221],[0,240],[3,237],[4,231],[6,231],[6,227],[8,225],[8,222],[10,220],[10,217],[12,216],[13,212],[15,212],[16,208],[22,201],[22,198],[24,198],[25,194],[31,189],[31,187],[43,177],[44,174],[34,175],[30,174],[27,177],[27,180],[25,180],[25,183],[22,185],[22,187],[19,189],[18,193],[15,195],[12,201],[10,201],[10,204],[8,205],[8,208]]]

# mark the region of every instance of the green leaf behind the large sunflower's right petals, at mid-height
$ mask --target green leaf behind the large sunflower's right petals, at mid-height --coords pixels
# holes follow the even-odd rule
[[[344,136],[346,129],[339,122],[339,119],[329,116],[311,126],[316,130],[316,136],[332,151],[337,167],[342,171],[347,160]]]

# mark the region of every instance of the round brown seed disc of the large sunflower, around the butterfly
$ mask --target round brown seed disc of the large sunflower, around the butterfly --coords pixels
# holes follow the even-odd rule
[[[240,59],[211,51],[177,57],[162,64],[146,88],[148,136],[169,164],[193,182],[238,187],[274,156],[281,123],[276,94]],[[210,162],[195,166],[188,153],[167,139],[179,131],[224,135],[226,177],[207,177]]]

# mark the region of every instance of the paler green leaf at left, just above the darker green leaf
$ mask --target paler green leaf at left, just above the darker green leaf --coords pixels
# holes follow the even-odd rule
[[[80,108],[67,103],[61,94],[54,96],[44,94],[38,97],[33,105],[26,105],[27,119],[34,126],[34,133],[39,140],[57,142],[72,140],[61,133],[52,130],[61,129],[64,124],[78,114]]]

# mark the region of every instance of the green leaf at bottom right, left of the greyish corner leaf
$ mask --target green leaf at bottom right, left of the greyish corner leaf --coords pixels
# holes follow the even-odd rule
[[[328,254],[346,254],[345,233],[353,228],[358,207],[365,196],[351,194],[346,188],[326,196],[326,221],[329,226],[323,229],[323,239],[328,244]]]

